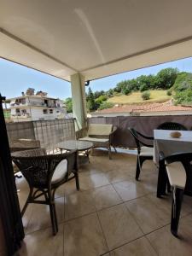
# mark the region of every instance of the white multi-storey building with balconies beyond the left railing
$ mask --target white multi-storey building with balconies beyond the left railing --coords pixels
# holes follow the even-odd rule
[[[11,119],[14,122],[64,119],[67,114],[65,104],[47,93],[29,88],[22,96],[8,99],[10,102]]]

